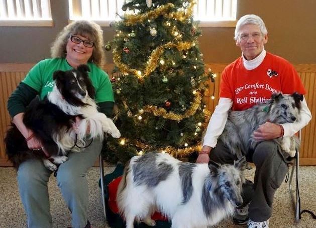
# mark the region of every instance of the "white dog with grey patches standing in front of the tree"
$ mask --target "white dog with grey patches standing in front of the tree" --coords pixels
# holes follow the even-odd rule
[[[133,228],[135,219],[154,226],[156,209],[171,220],[172,228],[215,225],[242,205],[245,165],[245,157],[234,165],[192,164],[163,153],[133,157],[117,192],[126,227]]]

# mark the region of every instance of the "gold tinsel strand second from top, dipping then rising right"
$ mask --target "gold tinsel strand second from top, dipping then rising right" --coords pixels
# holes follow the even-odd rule
[[[131,69],[129,66],[121,61],[121,55],[118,52],[117,48],[113,50],[113,61],[118,69],[124,74],[132,73],[136,75],[139,79],[143,80],[144,76],[148,76],[152,73],[157,65],[160,56],[163,54],[165,48],[177,48],[179,51],[184,51],[193,46],[194,42],[179,42],[178,44],[174,44],[172,42],[168,42],[160,47],[157,47],[150,55],[148,64],[144,70],[144,73],[140,70]]]

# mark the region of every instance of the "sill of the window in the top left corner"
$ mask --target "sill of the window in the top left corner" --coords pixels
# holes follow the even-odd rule
[[[53,27],[53,20],[0,20],[0,27]]]

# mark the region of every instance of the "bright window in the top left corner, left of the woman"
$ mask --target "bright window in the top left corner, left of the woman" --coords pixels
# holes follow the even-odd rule
[[[50,0],[0,0],[0,26],[53,26]]]

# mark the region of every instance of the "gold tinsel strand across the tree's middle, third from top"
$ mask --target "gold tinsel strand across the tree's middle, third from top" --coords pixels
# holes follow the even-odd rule
[[[157,106],[152,106],[152,105],[146,105],[144,107],[144,111],[153,112],[154,116],[156,117],[163,117],[165,119],[169,119],[173,121],[181,121],[184,118],[188,118],[192,116],[197,110],[197,108],[199,107],[200,103],[201,103],[201,94],[196,91],[193,104],[183,115],[176,114],[172,111],[167,112],[165,108],[162,108],[162,107],[157,108]]]

